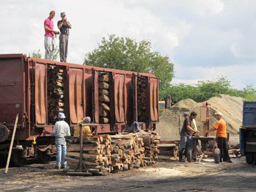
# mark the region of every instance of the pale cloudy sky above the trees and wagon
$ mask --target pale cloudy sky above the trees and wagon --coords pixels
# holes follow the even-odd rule
[[[149,40],[175,65],[173,83],[227,76],[256,86],[256,1],[253,0],[0,0],[0,53],[44,55],[44,20],[65,11],[72,24],[68,62],[83,63],[102,36]]]

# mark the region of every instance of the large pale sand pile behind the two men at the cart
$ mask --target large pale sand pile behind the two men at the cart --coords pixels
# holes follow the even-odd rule
[[[207,100],[210,107],[210,127],[216,123],[214,113],[220,111],[223,113],[223,119],[227,124],[227,130],[230,134],[238,134],[239,128],[242,125],[243,99],[241,97],[232,97],[229,95],[220,95]],[[180,129],[182,128],[184,117],[183,113],[196,111],[196,124],[201,132],[204,132],[204,125],[200,122],[200,106],[192,99],[184,99],[173,105],[171,109],[167,109],[166,113],[160,116],[159,124],[156,131],[159,132],[161,140],[176,140],[179,139]],[[213,133],[214,135],[216,133]]]

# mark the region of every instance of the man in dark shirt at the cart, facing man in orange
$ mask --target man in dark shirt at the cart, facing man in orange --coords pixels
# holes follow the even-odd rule
[[[195,133],[199,132],[191,127],[192,120],[195,119],[196,116],[197,116],[197,113],[195,111],[191,112],[190,116],[184,115],[185,120],[183,123],[183,127],[180,131],[180,147],[179,147],[180,162],[185,162],[185,160],[183,159],[184,150],[186,149],[186,145],[188,143],[188,140],[191,138],[191,135],[193,134],[193,132]]]

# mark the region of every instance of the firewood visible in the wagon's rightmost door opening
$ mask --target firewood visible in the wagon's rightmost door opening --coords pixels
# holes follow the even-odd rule
[[[137,105],[138,105],[138,121],[146,121],[146,85],[147,78],[139,76],[137,79]]]

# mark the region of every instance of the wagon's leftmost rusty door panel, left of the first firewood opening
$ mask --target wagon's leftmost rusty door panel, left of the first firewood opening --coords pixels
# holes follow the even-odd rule
[[[36,126],[47,124],[46,64],[35,63],[35,117]]]

